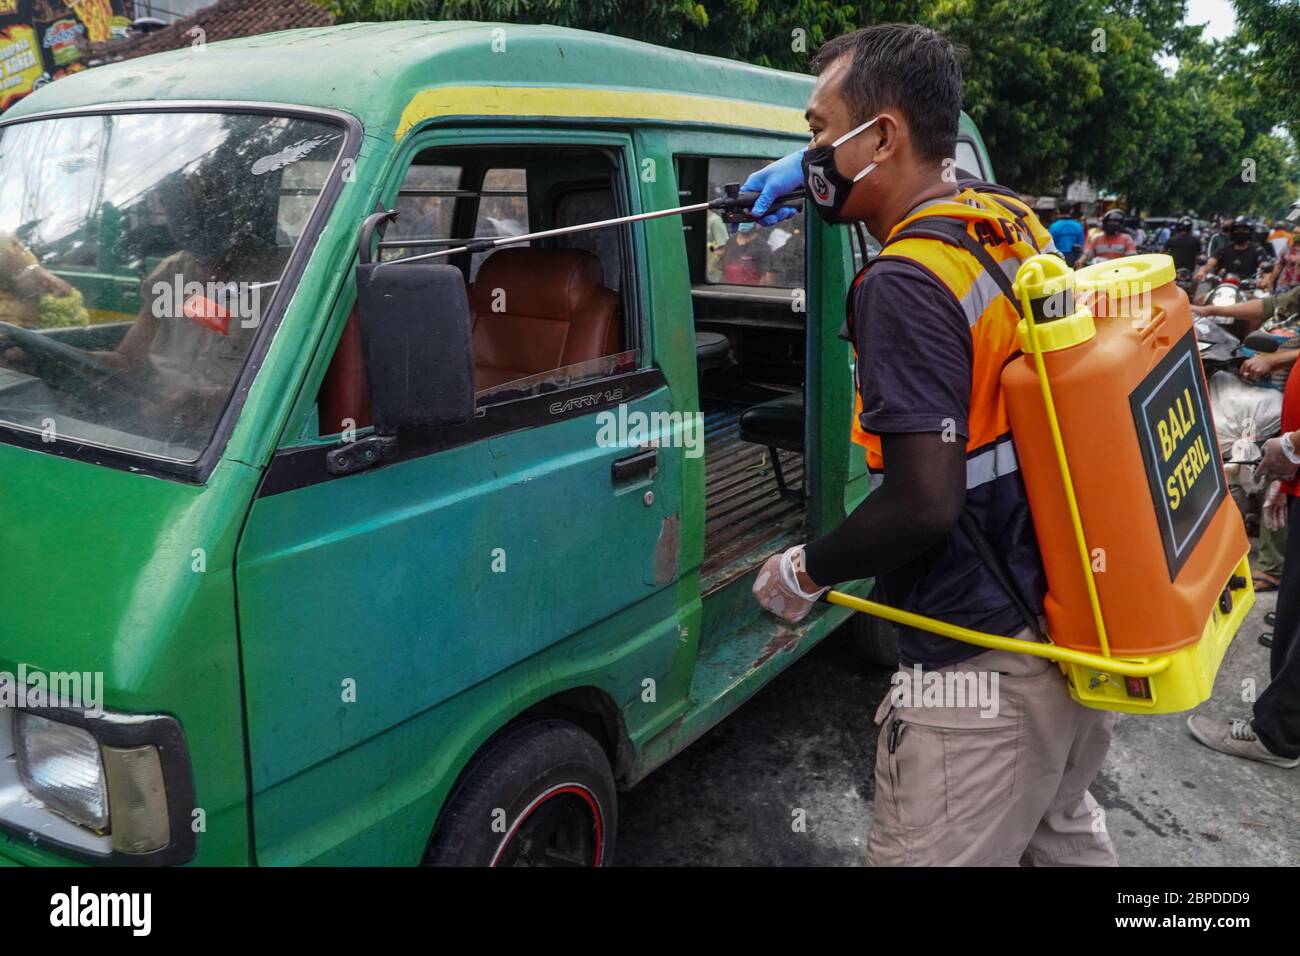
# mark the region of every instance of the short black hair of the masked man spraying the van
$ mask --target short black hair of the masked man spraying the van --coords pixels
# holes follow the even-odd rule
[[[822,73],[841,56],[853,59],[840,92],[857,122],[894,107],[918,156],[941,163],[957,152],[962,68],[946,36],[916,23],[868,26],[823,43],[810,66]]]

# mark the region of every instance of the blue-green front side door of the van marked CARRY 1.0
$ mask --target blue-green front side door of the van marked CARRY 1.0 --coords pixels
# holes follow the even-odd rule
[[[389,241],[419,238],[412,222],[446,239],[467,229],[519,234],[558,219],[584,221],[610,204],[640,211],[627,135],[428,135],[385,196],[387,206],[406,203],[398,222],[407,232],[395,229]],[[599,195],[601,157],[608,202]],[[546,285],[560,281],[554,258],[528,255],[545,246],[525,248],[500,289],[477,287],[500,251],[464,261],[477,278],[476,362],[495,390],[480,392],[471,424],[347,476],[332,476],[325,455],[352,437],[348,420],[364,424],[355,420],[364,402],[330,421],[338,394],[325,393],[337,393],[330,382],[350,338],[355,346],[355,325],[330,333],[341,345],[313,408],[318,434],[286,441],[276,455],[238,553],[261,862],[317,858],[318,845],[348,845],[400,808],[411,819],[410,845],[385,851],[356,840],[365,849],[346,860],[416,862],[419,831],[433,823],[429,780],[454,777],[497,722],[556,687],[597,687],[629,722],[671,719],[684,693],[684,682],[673,693],[671,674],[682,671],[672,587],[682,447],[672,440],[653,447],[673,408],[649,359],[644,241],[630,226],[563,246],[598,256],[606,271],[619,263],[604,285],[616,286],[621,330],[614,352],[536,375],[521,393],[499,380],[520,371],[511,363],[558,347],[555,323],[566,316],[556,312],[569,293]],[[537,287],[514,285],[511,277],[533,272]],[[335,310],[335,329],[348,304]],[[309,373],[308,388],[312,375],[321,380],[318,369]],[[638,421],[649,432],[621,431]],[[653,708],[644,706],[647,678],[662,682]]]

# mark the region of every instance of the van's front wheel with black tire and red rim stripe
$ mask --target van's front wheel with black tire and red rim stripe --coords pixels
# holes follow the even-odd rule
[[[614,774],[595,739],[567,721],[528,721],[469,761],[424,864],[607,866],[616,822]]]

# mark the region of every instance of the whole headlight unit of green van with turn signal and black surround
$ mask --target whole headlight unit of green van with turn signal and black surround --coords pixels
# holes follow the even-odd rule
[[[172,717],[17,709],[9,765],[26,800],[6,788],[0,761],[0,827],[83,860],[173,864],[194,857],[194,780]],[[13,770],[9,770],[13,774]],[[40,814],[51,821],[42,823]]]

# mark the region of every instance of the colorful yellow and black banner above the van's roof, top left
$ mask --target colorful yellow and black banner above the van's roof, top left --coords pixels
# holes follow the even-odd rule
[[[0,0],[0,112],[86,69],[86,47],[122,39],[130,0]]]

